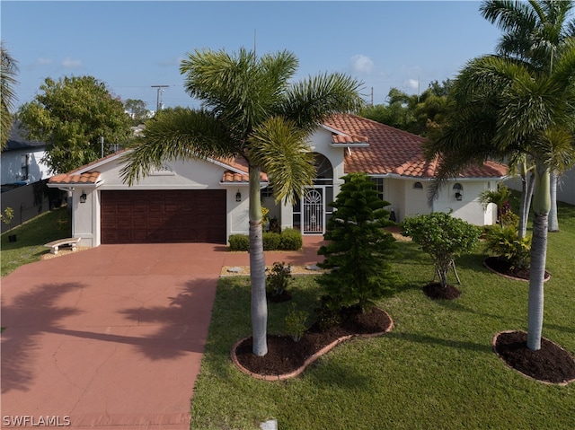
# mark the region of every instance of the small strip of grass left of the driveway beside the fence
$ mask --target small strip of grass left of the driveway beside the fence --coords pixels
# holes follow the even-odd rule
[[[17,241],[8,241],[15,234]],[[46,212],[31,221],[13,228],[0,236],[0,276],[6,276],[16,268],[39,261],[48,248],[44,243],[56,241],[72,234],[71,214],[66,207]]]

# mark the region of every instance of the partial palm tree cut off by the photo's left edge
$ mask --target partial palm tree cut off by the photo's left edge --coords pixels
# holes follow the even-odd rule
[[[18,73],[18,66],[16,61],[10,53],[4,48],[4,42],[0,44],[0,148],[4,149],[10,130],[12,129],[12,110],[13,104],[16,100],[16,93],[13,86],[18,83],[16,81],[16,74]]]

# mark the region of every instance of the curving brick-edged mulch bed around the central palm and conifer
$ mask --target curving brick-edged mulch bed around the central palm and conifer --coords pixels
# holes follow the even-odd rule
[[[345,340],[381,336],[393,327],[394,321],[387,312],[374,309],[331,329],[320,330],[314,324],[297,342],[289,336],[268,335],[268,354],[264,356],[253,355],[252,337],[240,339],[232,347],[231,358],[235,367],[256,379],[282,381],[303,373],[308,365]]]

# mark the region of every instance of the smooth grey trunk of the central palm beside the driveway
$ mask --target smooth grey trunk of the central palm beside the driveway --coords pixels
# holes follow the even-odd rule
[[[250,166],[250,280],[252,282],[252,338],[254,355],[268,354],[266,266],[261,228],[260,167]]]

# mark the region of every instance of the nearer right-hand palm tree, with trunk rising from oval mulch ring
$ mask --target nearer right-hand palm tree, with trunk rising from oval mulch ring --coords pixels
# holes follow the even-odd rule
[[[429,156],[443,162],[447,178],[473,162],[506,154],[528,154],[535,163],[527,347],[541,347],[553,130],[575,120],[575,40],[568,40],[553,71],[507,57],[479,57],[458,75],[447,126],[429,142]]]

